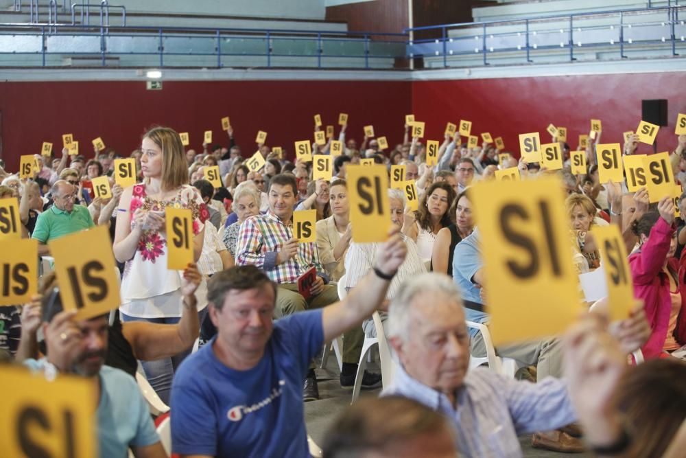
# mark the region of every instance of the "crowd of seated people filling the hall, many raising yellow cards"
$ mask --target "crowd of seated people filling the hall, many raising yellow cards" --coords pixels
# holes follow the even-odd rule
[[[38,241],[38,255],[49,260],[51,240],[106,226],[121,274],[119,310],[77,319],[47,268],[32,301],[0,306],[0,356],[46,376],[96,380],[102,457],[167,456],[132,377],[139,363],[171,407],[174,453],[305,457],[303,402],[320,397],[314,357],[342,336],[340,385],[353,387],[364,339],[377,336],[371,317],[378,310],[396,374],[381,398],[356,402],[334,422],[324,457],[521,456],[525,434],[547,450],[679,456],[686,445],[686,194],[650,204],[646,188],[601,183],[600,133],[578,148],[585,174],[571,172],[565,141],[563,168],[547,170],[488,141],[470,147],[446,133],[428,165],[426,146],[411,133],[405,124],[403,143],[386,151],[366,135],[358,148],[342,126],[330,180],[313,179],[311,161],[289,160],[285,148],[266,144],[257,144],[264,165],[251,170],[252,154],[243,154],[230,126],[225,145],[203,144],[201,152],[185,148],[171,128],[152,128],[128,154],[136,164],[128,187],[115,180],[123,157],[111,148],[95,147],[88,160],[66,147],[55,157],[36,155],[28,178],[0,164],[0,199],[17,200],[21,236]],[[334,140],[312,142],[311,150],[333,154]],[[638,150],[639,137],[628,136],[624,154]],[[388,190],[392,224],[383,242],[353,240],[346,170],[362,159],[389,173],[404,166],[418,191],[413,210],[403,191]],[[670,160],[674,176],[686,180],[686,135],[676,138]],[[219,185],[208,175],[215,166]],[[473,218],[475,184],[512,168],[522,180],[559,177],[579,274],[602,264],[593,227],[619,227],[637,299],[623,321],[609,322],[602,299],[585,304],[589,312],[564,335],[497,347],[521,368],[519,380],[470,367],[488,349],[482,332],[466,324],[488,325],[488,289],[498,288],[484,271],[482,244],[497,241],[483,240]],[[101,176],[110,198],[96,197],[93,180]],[[167,268],[171,208],[192,216],[193,262],[183,271]],[[296,238],[301,210],[316,213],[313,242]],[[303,289],[300,279],[312,271]],[[362,374],[365,389],[381,383],[381,374]]]

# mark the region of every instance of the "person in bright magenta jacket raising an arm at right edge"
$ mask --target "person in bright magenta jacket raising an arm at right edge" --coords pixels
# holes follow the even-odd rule
[[[632,231],[639,238],[639,247],[629,255],[634,295],[643,299],[652,330],[641,350],[645,358],[659,358],[686,342],[686,313],[682,312],[686,285],[674,257],[672,198],[662,198],[657,211],[648,211],[633,222]]]

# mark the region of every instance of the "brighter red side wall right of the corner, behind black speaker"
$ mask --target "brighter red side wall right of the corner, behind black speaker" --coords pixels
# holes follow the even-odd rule
[[[610,65],[610,64],[608,64]],[[502,136],[506,150],[519,156],[521,133],[539,131],[548,143],[548,124],[567,127],[576,149],[578,135],[588,134],[590,119],[601,119],[603,143],[624,143],[622,133],[636,130],[642,99],[667,99],[669,126],[657,136],[659,152],[676,147],[674,123],[686,112],[685,73],[636,73],[550,76],[412,83],[415,119],[426,122],[427,139],[442,139],[448,121],[473,122],[472,134]],[[639,144],[639,152],[651,152]]]

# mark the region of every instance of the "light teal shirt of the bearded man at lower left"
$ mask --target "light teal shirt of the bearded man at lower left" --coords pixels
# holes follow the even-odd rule
[[[30,369],[45,369],[45,358],[24,361]],[[97,442],[100,456],[126,457],[128,448],[160,442],[141,390],[130,375],[114,367],[100,369],[97,404]]]

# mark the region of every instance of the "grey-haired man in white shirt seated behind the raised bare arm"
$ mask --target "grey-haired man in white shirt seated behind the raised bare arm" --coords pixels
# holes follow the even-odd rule
[[[400,229],[403,227],[403,216],[405,214],[405,194],[401,190],[388,190],[388,200],[390,203],[390,219],[394,225]],[[405,261],[398,269],[398,273],[393,277],[388,293],[386,293],[386,304],[397,295],[398,290],[403,284],[416,275],[420,275],[427,271],[425,264],[422,262],[417,251],[417,245],[411,238],[403,235],[403,240],[407,244],[407,255]],[[377,249],[381,246],[380,243],[355,243],[351,242],[348,248],[348,253],[345,257],[345,287],[346,290],[351,290],[357,285],[360,280],[370,271],[372,263],[375,260]],[[386,321],[386,314],[381,312],[381,321]],[[367,336],[375,337],[376,329],[374,321],[367,319],[362,323],[364,333]],[[384,325],[385,328],[385,325]]]

